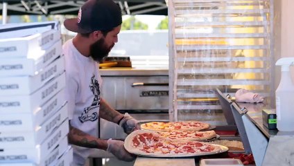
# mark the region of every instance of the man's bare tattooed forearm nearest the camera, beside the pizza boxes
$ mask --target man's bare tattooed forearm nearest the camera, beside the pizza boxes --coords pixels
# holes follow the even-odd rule
[[[68,138],[70,144],[77,145],[79,147],[88,147],[103,150],[107,149],[107,140],[101,140],[83,131],[80,131],[80,129],[72,127],[71,122],[69,122]]]

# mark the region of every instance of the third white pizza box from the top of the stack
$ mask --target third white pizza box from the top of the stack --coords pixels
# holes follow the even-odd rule
[[[62,41],[58,40],[46,50],[36,50],[33,57],[1,59],[0,76],[35,75],[61,55]]]

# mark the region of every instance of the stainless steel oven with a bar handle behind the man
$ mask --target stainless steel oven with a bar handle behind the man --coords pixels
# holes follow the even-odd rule
[[[137,120],[168,120],[168,70],[101,70],[102,97]],[[118,125],[101,119],[100,138],[125,138]]]

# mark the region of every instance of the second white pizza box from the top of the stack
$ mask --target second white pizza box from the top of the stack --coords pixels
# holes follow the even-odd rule
[[[31,58],[61,39],[60,30],[47,30],[26,37],[0,39],[0,58]]]

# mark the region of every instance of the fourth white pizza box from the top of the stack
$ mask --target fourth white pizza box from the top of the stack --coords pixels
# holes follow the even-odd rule
[[[0,95],[30,95],[42,86],[58,77],[65,70],[64,56],[46,66],[34,76],[0,77]]]

